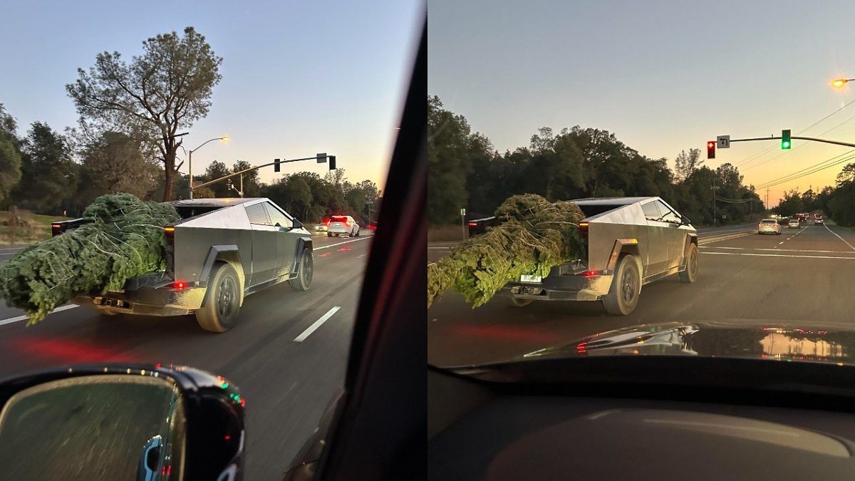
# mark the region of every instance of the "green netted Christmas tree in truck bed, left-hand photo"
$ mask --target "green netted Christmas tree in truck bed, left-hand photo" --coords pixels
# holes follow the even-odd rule
[[[33,324],[78,294],[119,290],[127,279],[166,268],[163,226],[180,217],[171,205],[129,193],[101,196],[89,222],[17,252],[3,267],[0,297]]]

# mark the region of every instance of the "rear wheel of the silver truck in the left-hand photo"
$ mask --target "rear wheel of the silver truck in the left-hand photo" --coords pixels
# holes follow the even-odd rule
[[[196,320],[203,330],[226,332],[238,324],[240,280],[232,264],[217,262],[208,278],[208,291]]]

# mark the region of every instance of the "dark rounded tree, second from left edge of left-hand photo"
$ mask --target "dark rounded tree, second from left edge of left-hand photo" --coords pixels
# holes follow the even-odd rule
[[[56,212],[77,188],[78,165],[71,159],[68,139],[46,123],[32,122],[22,151],[15,202],[44,214]]]

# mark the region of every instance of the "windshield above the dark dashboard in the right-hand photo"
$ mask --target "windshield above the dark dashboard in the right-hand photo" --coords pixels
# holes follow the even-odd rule
[[[855,363],[855,10],[787,5],[431,3],[431,365]]]

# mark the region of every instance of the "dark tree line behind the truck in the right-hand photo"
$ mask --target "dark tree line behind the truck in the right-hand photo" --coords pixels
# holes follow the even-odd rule
[[[649,158],[597,128],[540,128],[527,146],[496,151],[466,118],[428,97],[428,223],[492,215],[511,195],[536,193],[550,200],[659,196],[695,224],[737,223],[763,211],[739,169],[704,165],[699,149],[681,151],[675,168]]]

